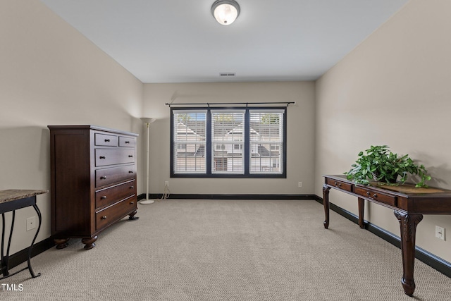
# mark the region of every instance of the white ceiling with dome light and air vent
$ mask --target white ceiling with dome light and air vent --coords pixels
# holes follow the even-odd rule
[[[409,0],[41,1],[142,82],[243,82],[315,80]]]

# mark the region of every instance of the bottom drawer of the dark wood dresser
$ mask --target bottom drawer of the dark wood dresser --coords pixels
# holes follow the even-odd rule
[[[129,214],[136,207],[136,197],[129,197],[123,199],[121,202],[112,204],[105,209],[96,212],[96,230],[100,230],[110,223],[114,223],[119,219],[122,219],[125,215]]]

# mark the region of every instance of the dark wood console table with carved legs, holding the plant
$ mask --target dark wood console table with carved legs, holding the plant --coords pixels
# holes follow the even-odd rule
[[[440,188],[415,188],[414,185],[399,186],[359,185],[346,176],[323,176],[323,204],[326,220],[324,228],[329,226],[329,190],[334,188],[358,199],[359,226],[364,228],[364,200],[394,210],[400,222],[402,252],[402,287],[404,293],[412,297],[415,290],[414,260],[416,225],[423,219],[423,214],[451,214],[451,190]]]

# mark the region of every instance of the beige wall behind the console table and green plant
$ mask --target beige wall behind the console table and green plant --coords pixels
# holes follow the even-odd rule
[[[348,171],[370,145],[409,154],[435,178],[430,185],[451,189],[450,11],[451,1],[410,1],[316,82],[316,195],[322,174]],[[357,214],[354,197],[333,191],[330,200]],[[366,207],[366,219],[399,235],[392,210]],[[425,216],[416,243],[451,262],[451,216]]]

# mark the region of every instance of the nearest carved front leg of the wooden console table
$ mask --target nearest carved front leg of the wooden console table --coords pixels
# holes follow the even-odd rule
[[[400,222],[401,252],[402,252],[402,287],[404,293],[412,297],[415,290],[414,261],[416,225],[423,219],[423,214],[407,214],[395,210],[395,216]]]

